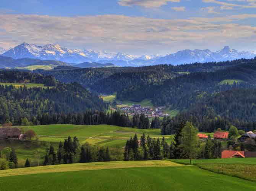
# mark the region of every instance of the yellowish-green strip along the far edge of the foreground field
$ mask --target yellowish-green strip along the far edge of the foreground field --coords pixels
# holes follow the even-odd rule
[[[0,170],[0,177],[15,175],[28,175],[38,173],[69,172],[81,170],[122,169],[134,167],[178,167],[183,166],[171,161],[115,161],[115,162],[90,162],[76,164],[61,164],[52,166],[38,166],[30,168]]]

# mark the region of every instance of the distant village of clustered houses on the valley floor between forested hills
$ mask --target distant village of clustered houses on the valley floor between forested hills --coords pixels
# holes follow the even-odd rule
[[[135,114],[141,114],[141,113],[144,113],[147,118],[169,116],[169,114],[162,112],[161,107],[157,107],[154,109],[152,107],[141,107],[141,105],[132,105],[131,107],[126,106],[126,107],[120,107],[119,109],[123,111],[123,113],[126,113],[131,116],[134,116]]]

